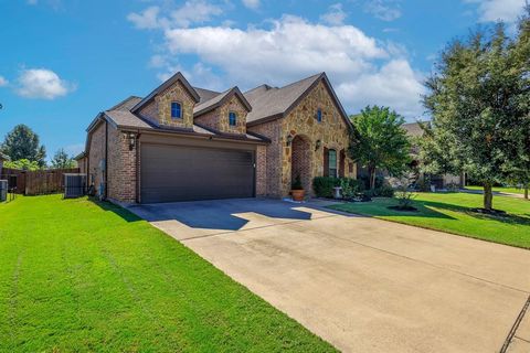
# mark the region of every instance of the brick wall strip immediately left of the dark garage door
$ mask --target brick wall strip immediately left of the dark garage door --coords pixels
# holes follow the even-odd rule
[[[139,143],[136,143],[139,148]],[[136,202],[136,148],[129,150],[126,132],[108,129],[108,194],[109,199]]]

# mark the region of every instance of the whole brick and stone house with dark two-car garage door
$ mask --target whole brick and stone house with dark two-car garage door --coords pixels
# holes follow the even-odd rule
[[[300,176],[356,175],[351,124],[325,73],[285,87],[213,92],[181,73],[102,111],[76,160],[96,192],[156,203],[287,196]]]

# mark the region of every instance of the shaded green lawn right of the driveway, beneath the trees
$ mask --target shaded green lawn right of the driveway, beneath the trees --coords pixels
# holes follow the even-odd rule
[[[494,196],[494,207],[506,216],[474,213],[483,206],[483,195],[466,193],[418,193],[414,200],[417,212],[389,210],[395,199],[375,199],[367,203],[348,203],[331,208],[371,215],[414,226],[443,231],[478,239],[530,248],[530,202],[508,196]]]

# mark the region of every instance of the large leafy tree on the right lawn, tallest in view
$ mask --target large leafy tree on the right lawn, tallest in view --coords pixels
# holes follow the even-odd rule
[[[528,137],[528,66],[517,57],[516,42],[502,23],[455,40],[426,81],[432,122],[422,146],[425,171],[467,172],[483,184],[488,211],[492,185],[513,175]]]

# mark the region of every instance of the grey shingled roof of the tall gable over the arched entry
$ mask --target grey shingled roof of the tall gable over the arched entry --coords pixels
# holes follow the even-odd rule
[[[245,92],[244,96],[252,106],[252,111],[248,113],[246,122],[253,126],[287,116],[320,81],[326,84],[342,119],[351,127],[351,121],[326,73],[312,75],[280,88],[264,84]]]

